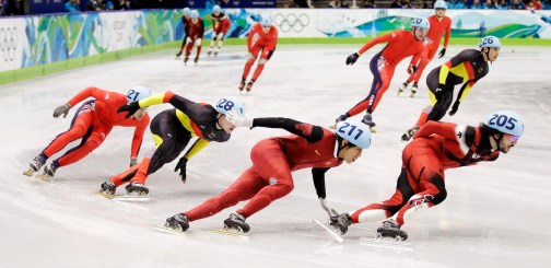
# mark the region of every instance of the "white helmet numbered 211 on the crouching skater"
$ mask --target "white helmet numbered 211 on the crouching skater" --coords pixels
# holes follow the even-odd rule
[[[367,125],[359,120],[347,119],[337,123],[335,127],[337,135],[350,143],[367,149],[371,145],[371,131]]]

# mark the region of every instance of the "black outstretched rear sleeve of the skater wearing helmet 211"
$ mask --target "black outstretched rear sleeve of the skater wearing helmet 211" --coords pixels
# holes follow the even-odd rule
[[[306,139],[308,142],[316,142],[324,138],[324,129],[321,127],[284,117],[255,118],[253,127],[282,128]]]

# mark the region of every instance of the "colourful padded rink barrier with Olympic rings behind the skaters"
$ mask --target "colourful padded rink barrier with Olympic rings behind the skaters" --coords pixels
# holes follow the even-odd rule
[[[203,45],[212,36],[210,10]],[[506,12],[506,13],[505,13]],[[433,10],[231,9],[225,45],[244,45],[251,25],[270,15],[283,44],[364,44],[395,30],[409,28],[412,16]],[[551,45],[551,11],[448,10],[450,45],[476,45],[495,35],[507,45]],[[506,14],[506,15],[505,15]],[[0,19],[0,84],[179,48],[180,10],[84,12]]]

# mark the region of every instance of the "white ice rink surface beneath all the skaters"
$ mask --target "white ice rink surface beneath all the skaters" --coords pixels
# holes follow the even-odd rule
[[[284,116],[328,127],[363,100],[372,83],[375,47],[356,65],[344,65],[361,45],[278,46],[253,93],[243,96],[249,116]],[[372,147],[353,164],[327,173],[327,200],[339,212],[389,198],[400,172],[401,133],[429,104],[425,75],[467,47],[452,46],[426,68],[418,97],[397,96],[409,59],[396,69],[374,120]],[[213,234],[243,203],[191,222],[187,235],[153,231],[227,187],[250,165],[249,151],[284,130],[237,129],[225,143],[212,142],[188,163],[181,184],[166,164],[146,182],[151,201],[129,203],[91,193],[128,167],[133,130],[115,128],[101,148],[57,171],[54,182],[22,172],[74,115],[52,118],[54,109],[86,86],[126,93],[133,85],[172,90],[196,102],[238,95],[245,47],[224,47],[199,66],[174,60],[166,50],[0,86],[0,267],[549,267],[551,264],[551,48],[504,47],[454,117],[478,125],[489,113],[514,109],[526,133],[496,162],[446,173],[447,199],[418,213],[402,229],[410,244],[370,242],[379,222],[354,224],[337,243],[310,220],[327,221],[309,170],[294,173],[294,190],[247,219],[248,238]],[[251,71],[253,73],[253,71]],[[457,92],[457,90],[456,90]],[[409,90],[408,92],[409,93]],[[169,104],[150,107],[156,115]],[[361,118],[357,116],[357,118]],[[71,143],[66,149],[78,143]],[[152,148],[144,136],[140,159]],[[60,156],[54,155],[50,160]],[[118,194],[125,191],[119,187]]]

